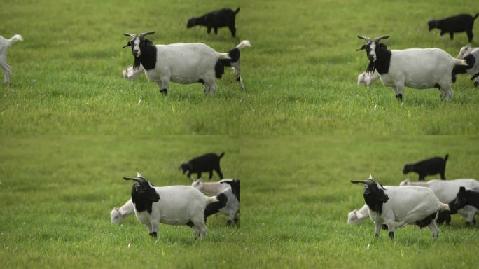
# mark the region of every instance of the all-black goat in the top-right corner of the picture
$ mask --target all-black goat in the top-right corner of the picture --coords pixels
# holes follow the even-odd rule
[[[468,42],[471,42],[473,39],[472,29],[474,27],[474,20],[478,18],[478,16],[479,13],[475,14],[474,17],[469,14],[460,14],[442,20],[430,20],[427,24],[429,25],[429,31],[438,28],[440,29],[440,36],[449,33],[451,40],[454,40],[454,33],[466,32]]]

